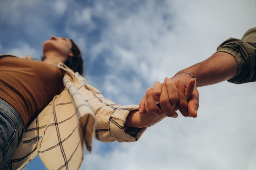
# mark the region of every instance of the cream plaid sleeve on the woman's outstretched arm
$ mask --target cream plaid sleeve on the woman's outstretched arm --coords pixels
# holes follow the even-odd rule
[[[138,105],[118,105],[105,99],[94,87],[86,84],[88,104],[97,119],[95,138],[102,142],[134,142],[137,141],[146,128],[124,127],[128,114],[139,110]]]

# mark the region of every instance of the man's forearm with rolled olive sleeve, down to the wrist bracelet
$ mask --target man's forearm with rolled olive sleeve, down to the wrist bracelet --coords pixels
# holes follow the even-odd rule
[[[230,38],[224,41],[210,58],[182,71],[192,73],[198,87],[231,78],[230,82],[240,84],[255,81],[255,61],[256,27],[249,29],[241,40]]]

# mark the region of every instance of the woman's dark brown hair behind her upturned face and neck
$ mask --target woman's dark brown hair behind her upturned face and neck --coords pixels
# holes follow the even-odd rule
[[[71,70],[73,70],[74,72],[77,72],[82,75],[83,74],[83,59],[82,59],[82,55],[81,52],[77,46],[77,44],[75,44],[75,42],[70,39],[71,43],[72,43],[72,47],[71,47],[71,52],[73,53],[73,57],[69,57],[67,59],[67,61],[64,63],[65,65],[67,65]],[[45,59],[45,56],[42,56],[42,61]]]

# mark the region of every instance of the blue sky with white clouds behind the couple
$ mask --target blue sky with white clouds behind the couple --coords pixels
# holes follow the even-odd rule
[[[73,39],[87,83],[115,103],[210,57],[256,25],[255,0],[0,0],[0,53],[39,59],[51,35]],[[197,118],[165,118],[137,142],[94,140],[80,169],[256,169],[255,82],[198,88]],[[106,166],[107,165],[107,166]],[[46,169],[37,156],[24,169]]]

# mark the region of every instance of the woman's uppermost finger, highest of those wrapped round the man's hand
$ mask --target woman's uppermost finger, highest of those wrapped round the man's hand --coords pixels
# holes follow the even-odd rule
[[[177,101],[179,100],[178,90],[174,82],[168,77],[164,78],[164,84],[168,91],[168,97],[169,97],[170,103],[174,107]]]

